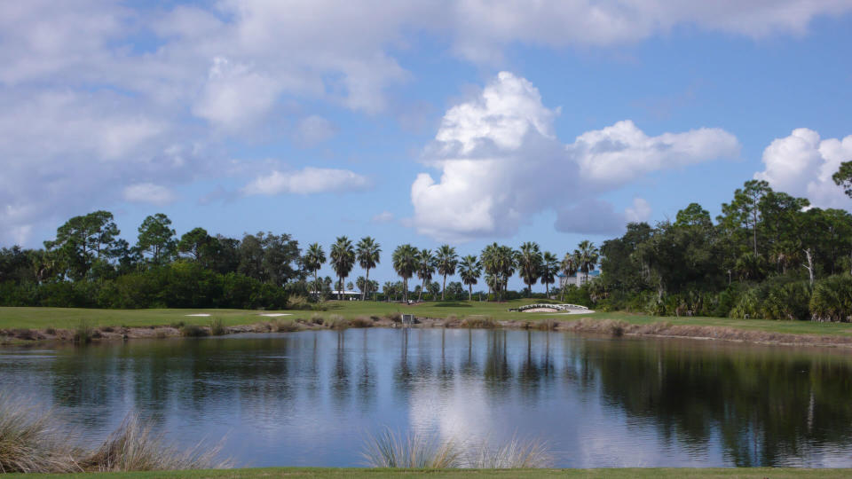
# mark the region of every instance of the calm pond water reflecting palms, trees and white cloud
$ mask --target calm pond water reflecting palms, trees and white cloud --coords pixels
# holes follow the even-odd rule
[[[383,427],[548,441],[557,467],[852,467],[847,351],[461,329],[0,349],[91,444],[127,412],[238,466],[364,466]]]

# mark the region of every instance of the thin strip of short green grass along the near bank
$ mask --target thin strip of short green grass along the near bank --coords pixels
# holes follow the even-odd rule
[[[217,469],[195,471],[154,471],[132,473],[101,473],[101,474],[69,474],[69,475],[9,475],[30,478],[102,478],[102,479],[153,479],[163,478],[228,478],[255,479],[271,477],[288,478],[343,478],[383,479],[390,477],[428,477],[430,479],[454,479],[467,477],[503,477],[538,479],[541,477],[567,478],[652,478],[666,479],[668,477],[698,477],[698,478],[830,478],[849,477],[852,469],[794,469],[794,468],[623,468],[623,469],[357,469],[357,468],[308,468],[308,467],[273,467],[263,469]]]

